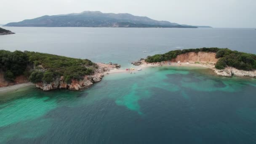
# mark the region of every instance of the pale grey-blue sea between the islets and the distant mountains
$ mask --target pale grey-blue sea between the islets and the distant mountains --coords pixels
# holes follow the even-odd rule
[[[255,29],[3,27],[0,49],[53,53],[126,66],[175,49],[219,47],[256,53]],[[147,51],[147,53],[143,53]]]

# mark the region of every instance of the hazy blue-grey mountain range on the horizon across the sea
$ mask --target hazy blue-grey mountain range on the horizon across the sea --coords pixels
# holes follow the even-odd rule
[[[146,16],[133,16],[129,13],[101,13],[84,11],[54,16],[41,16],[20,22],[5,24],[8,27],[163,27],[197,28],[169,21],[156,21]]]

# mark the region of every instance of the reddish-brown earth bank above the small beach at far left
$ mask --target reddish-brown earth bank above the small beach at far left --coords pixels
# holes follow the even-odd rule
[[[28,79],[24,75],[20,75],[16,77],[14,82],[8,82],[7,80],[4,79],[3,72],[0,71],[0,87],[6,87],[10,85],[16,85],[16,84],[27,83],[27,82],[28,82]]]

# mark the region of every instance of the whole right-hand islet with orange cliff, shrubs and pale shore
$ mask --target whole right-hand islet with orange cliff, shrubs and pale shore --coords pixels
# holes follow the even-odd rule
[[[150,66],[200,66],[213,69],[217,75],[256,78],[256,55],[232,51],[228,48],[195,48],[169,51],[148,56],[134,62],[142,67]]]

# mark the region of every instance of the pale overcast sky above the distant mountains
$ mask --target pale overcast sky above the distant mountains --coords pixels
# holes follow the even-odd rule
[[[256,27],[256,0],[1,0],[0,24],[101,11],[212,27]]]

